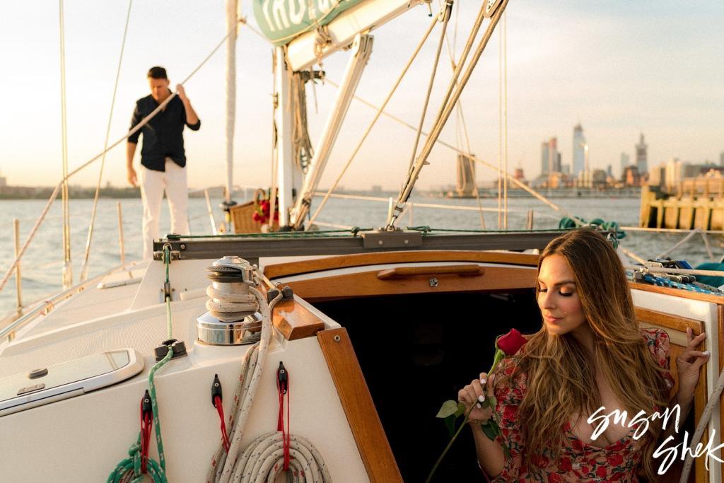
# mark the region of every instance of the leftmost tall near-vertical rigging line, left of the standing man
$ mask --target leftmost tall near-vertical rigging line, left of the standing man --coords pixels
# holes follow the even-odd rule
[[[63,0],[59,0],[59,31],[60,31],[60,116],[62,130],[62,161],[63,161],[63,288],[73,285],[73,266],[70,261],[70,207],[68,206],[68,125],[67,103],[65,96],[65,17]]]

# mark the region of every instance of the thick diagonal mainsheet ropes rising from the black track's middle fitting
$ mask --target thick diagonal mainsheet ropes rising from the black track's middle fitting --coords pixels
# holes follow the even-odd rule
[[[505,7],[507,7],[507,5],[508,0],[503,0],[502,3],[499,4],[496,12],[492,15],[492,17],[490,17],[490,21],[488,23],[487,29],[485,30],[485,33],[483,34],[483,37],[478,46],[476,47],[472,59],[466,65],[466,70],[463,74],[463,80],[460,81],[459,87],[455,88],[455,85],[458,85],[458,77],[462,72],[463,64],[466,62],[467,54],[470,51],[470,46],[473,43],[475,36],[477,35],[477,30],[473,29],[473,31],[471,31],[471,34],[468,36],[466,52],[463,54],[463,57],[460,60],[460,64],[458,64],[458,67],[455,69],[455,74],[452,76],[452,79],[450,79],[450,86],[448,88],[447,95],[445,96],[445,100],[440,105],[440,111],[438,113],[436,122],[434,123],[432,133],[429,138],[427,138],[420,156],[418,156],[413,172],[408,175],[408,178],[407,180],[405,180],[405,184],[403,185],[403,189],[400,190],[400,196],[397,198],[397,203],[395,203],[394,211],[392,212],[392,214],[390,214],[389,217],[387,217],[387,230],[392,230],[395,227],[395,221],[397,220],[397,217],[400,216],[400,211],[402,211],[405,203],[408,201],[408,198],[410,198],[410,194],[412,193],[412,190],[415,186],[415,182],[417,181],[420,171],[424,167],[424,164],[426,163],[426,160],[430,152],[432,151],[435,140],[439,138],[439,135],[442,132],[442,128],[445,127],[447,119],[450,118],[450,113],[452,112],[453,106],[455,106],[455,103],[458,102],[460,94],[463,92],[463,89],[468,83],[468,80],[470,80],[473,70],[478,63],[480,56],[485,49],[485,46],[487,46],[490,36],[492,35],[498,20],[500,20],[500,15],[503,11],[505,11]],[[481,4],[481,11],[479,16],[484,14],[484,10],[485,4]]]

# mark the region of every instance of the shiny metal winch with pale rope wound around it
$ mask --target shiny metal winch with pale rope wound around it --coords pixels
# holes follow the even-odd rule
[[[256,343],[261,337],[261,314],[256,297],[254,266],[238,256],[224,256],[206,268],[208,312],[196,319],[198,341],[211,345]]]

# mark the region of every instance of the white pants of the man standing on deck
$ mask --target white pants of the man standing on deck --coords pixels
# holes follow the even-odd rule
[[[140,198],[143,201],[143,259],[153,258],[153,240],[159,238],[161,199],[169,202],[171,232],[188,235],[188,185],[186,168],[166,158],[166,171],[140,168]]]

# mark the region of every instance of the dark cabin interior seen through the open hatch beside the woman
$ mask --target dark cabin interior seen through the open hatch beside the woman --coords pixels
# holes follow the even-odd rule
[[[435,415],[489,369],[495,337],[513,327],[531,334],[541,324],[531,289],[386,295],[314,306],[348,330],[405,482],[424,482],[447,445],[450,435]],[[468,429],[433,481],[485,481]]]

